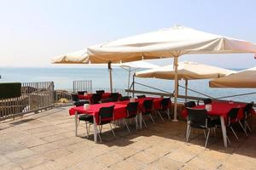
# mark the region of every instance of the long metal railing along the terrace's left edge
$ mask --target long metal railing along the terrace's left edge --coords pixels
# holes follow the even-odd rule
[[[54,106],[54,82],[23,82],[21,95],[0,99],[0,120]]]

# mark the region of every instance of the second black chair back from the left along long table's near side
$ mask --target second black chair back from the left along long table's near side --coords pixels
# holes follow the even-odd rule
[[[138,127],[138,124],[137,124],[137,113],[138,113],[138,102],[130,102],[130,103],[128,103],[128,105],[126,107],[126,117],[125,117],[125,119],[131,120],[132,118],[134,118],[135,119],[135,123],[136,123],[135,124],[136,128]],[[127,130],[130,133],[130,129],[129,129],[125,119],[124,119],[125,126],[127,127]]]

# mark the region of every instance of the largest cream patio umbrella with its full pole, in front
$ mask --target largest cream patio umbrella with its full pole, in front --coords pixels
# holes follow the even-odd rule
[[[177,58],[183,54],[256,53],[256,45],[184,26],[173,26],[88,48],[91,63],[118,63],[174,57],[174,121],[177,121]]]

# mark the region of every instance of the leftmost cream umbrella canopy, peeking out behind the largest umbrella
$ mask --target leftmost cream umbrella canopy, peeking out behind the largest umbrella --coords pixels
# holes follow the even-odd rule
[[[87,48],[69,54],[56,56],[52,59],[55,64],[88,64],[90,63]]]

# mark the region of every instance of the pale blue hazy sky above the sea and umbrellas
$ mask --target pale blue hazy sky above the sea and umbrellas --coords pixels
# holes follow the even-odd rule
[[[0,22],[0,66],[42,67],[55,55],[174,25],[256,42],[256,1],[0,0]],[[225,68],[256,64],[253,54],[180,60]]]

